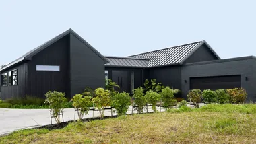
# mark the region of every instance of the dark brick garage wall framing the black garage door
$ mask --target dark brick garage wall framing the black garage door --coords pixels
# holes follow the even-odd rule
[[[256,75],[253,72],[253,69],[256,71],[255,64],[255,59],[244,59],[238,61],[223,61],[220,63],[217,62],[183,65],[181,69],[181,89],[183,98],[187,98],[186,95],[190,89],[191,77],[220,77],[240,75],[241,87],[243,87],[248,93],[247,102],[250,100],[255,102],[256,90],[254,85],[256,84]],[[248,80],[246,80],[245,77],[248,77]]]

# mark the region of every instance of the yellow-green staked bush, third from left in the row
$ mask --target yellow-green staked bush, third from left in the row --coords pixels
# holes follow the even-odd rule
[[[96,104],[96,108],[100,110],[100,117],[104,117],[104,108],[110,106],[110,91],[103,88],[95,89],[96,97],[92,98],[92,102]]]

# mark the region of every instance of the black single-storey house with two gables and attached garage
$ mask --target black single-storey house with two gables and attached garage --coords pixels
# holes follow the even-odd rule
[[[67,30],[13,61],[1,73],[1,99],[43,97],[49,90],[71,98],[85,87],[104,87],[112,79],[120,92],[133,92],[145,79],[181,89],[243,87],[256,101],[256,58],[220,59],[205,40],[129,57],[102,56],[73,30]]]

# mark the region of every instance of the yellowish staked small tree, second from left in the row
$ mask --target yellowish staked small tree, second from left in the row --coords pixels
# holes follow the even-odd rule
[[[84,115],[88,114],[90,106],[92,105],[91,96],[83,96],[82,94],[76,94],[73,96],[73,106],[77,108],[77,115],[79,120],[82,120]]]

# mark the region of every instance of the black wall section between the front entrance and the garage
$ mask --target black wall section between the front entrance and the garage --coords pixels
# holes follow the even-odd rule
[[[173,89],[181,89],[181,66],[156,67],[148,69],[148,79]]]

